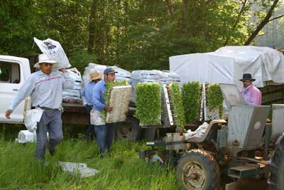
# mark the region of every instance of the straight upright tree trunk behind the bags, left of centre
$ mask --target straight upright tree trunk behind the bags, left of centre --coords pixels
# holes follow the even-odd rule
[[[94,52],[94,36],[96,29],[96,13],[97,13],[97,0],[93,0],[91,6],[91,14],[89,15],[89,43],[88,43],[88,52]]]

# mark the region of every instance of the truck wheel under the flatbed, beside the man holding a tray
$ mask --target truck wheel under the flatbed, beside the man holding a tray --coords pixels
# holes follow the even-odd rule
[[[139,139],[141,129],[139,121],[134,117],[127,117],[125,122],[116,125],[116,138],[117,139]]]

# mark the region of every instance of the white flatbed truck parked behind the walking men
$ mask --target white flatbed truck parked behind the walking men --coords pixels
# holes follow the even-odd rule
[[[0,55],[0,123],[23,124],[24,115],[31,109],[31,99],[27,98],[13,110],[11,119],[5,117],[13,95],[31,75],[31,65],[27,58]],[[63,125],[88,125],[87,112],[84,105],[63,102]],[[129,112],[126,122],[117,126],[116,135],[121,138],[136,139],[140,134],[138,120]]]

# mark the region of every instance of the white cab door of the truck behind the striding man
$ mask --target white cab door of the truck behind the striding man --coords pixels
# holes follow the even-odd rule
[[[25,100],[13,110],[11,119],[5,117],[11,99],[23,85],[23,82],[24,75],[21,62],[0,57],[0,122],[23,123]]]

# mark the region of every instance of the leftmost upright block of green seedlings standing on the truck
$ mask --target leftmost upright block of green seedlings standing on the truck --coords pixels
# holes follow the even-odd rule
[[[161,85],[138,83],[136,87],[135,117],[144,125],[160,125]]]

